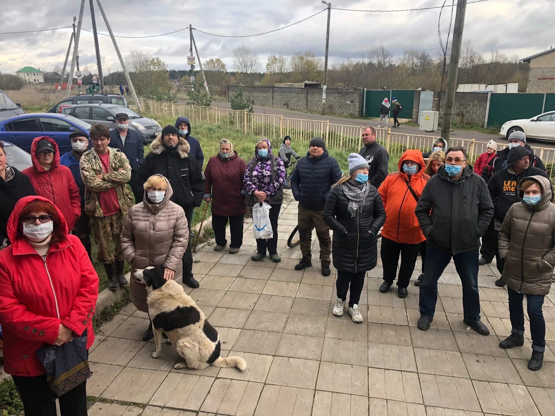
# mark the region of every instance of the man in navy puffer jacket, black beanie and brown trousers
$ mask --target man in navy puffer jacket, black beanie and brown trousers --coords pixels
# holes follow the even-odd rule
[[[331,238],[330,227],[322,217],[326,198],[331,186],[341,179],[341,168],[334,157],[326,151],[326,143],[320,137],[309,143],[309,151],[299,159],[291,176],[291,191],[295,201],[299,201],[299,236],[302,259],[295,265],[295,270],[304,270],[312,266],[312,229],[320,242],[320,264],[322,275],[331,273]]]

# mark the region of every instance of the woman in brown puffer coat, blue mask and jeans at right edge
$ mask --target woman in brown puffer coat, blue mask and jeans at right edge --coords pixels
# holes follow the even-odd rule
[[[555,204],[551,202],[551,183],[543,176],[522,179],[518,196],[522,202],[509,208],[499,232],[499,257],[505,260],[501,278],[507,283],[512,325],[511,335],[499,347],[524,345],[522,301],[526,295],[532,337],[528,368],[539,370],[546,349],[542,305],[555,268]]]

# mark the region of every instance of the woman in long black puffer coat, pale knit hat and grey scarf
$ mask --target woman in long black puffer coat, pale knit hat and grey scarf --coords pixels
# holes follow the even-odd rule
[[[332,187],[324,206],[324,221],[334,230],[332,251],[337,300],[333,314],[340,317],[345,310],[355,323],[361,323],[360,295],[368,270],[377,264],[377,234],[386,214],[380,193],[368,182],[368,163],[357,153],[349,155],[349,176]]]

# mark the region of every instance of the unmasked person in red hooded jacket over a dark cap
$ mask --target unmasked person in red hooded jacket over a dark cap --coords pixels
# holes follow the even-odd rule
[[[31,143],[31,158],[33,166],[23,173],[31,179],[37,195],[58,207],[72,231],[75,220],[81,216],[81,196],[69,168],[60,165],[58,144],[47,136],[36,137]]]

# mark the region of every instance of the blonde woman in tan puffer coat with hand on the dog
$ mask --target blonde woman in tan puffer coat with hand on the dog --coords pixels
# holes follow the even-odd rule
[[[133,206],[124,219],[120,242],[123,257],[131,264],[130,298],[137,309],[148,313],[147,287],[135,280],[133,272],[148,266],[163,267],[166,280],[180,282],[189,224],[183,208],[170,201],[173,191],[168,179],[153,175],[144,183],[144,190],[143,202]],[[143,340],[153,336],[150,322]]]

